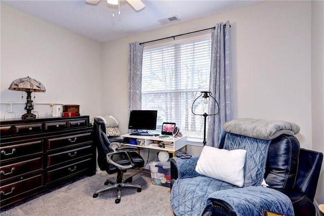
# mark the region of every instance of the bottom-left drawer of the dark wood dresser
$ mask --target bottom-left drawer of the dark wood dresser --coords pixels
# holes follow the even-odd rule
[[[43,186],[43,175],[37,175],[30,177],[19,182],[14,182],[9,185],[1,186],[0,188],[0,198],[1,201],[6,199],[13,198],[21,193],[39,188]]]

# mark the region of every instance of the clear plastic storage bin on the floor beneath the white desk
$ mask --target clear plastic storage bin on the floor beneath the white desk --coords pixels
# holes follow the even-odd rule
[[[149,166],[152,184],[170,188],[170,160],[167,162],[152,161]]]

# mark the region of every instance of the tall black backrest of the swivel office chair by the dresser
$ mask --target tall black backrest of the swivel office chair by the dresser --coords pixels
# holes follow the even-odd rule
[[[98,150],[98,166],[101,170],[107,170],[109,169],[110,164],[107,162],[106,154],[113,152],[114,150],[106,136],[106,124],[102,118],[94,118],[93,133],[93,142],[96,144]]]

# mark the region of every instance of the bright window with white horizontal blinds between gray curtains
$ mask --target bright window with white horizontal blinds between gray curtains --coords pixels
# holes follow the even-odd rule
[[[209,89],[210,65],[210,35],[144,50],[142,109],[157,110],[157,133],[163,122],[176,122],[188,138],[203,138],[204,118],[193,115],[191,106]]]

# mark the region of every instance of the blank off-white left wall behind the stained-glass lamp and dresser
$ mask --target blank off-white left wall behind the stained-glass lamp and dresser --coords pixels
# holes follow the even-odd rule
[[[26,102],[26,93],[21,99],[21,92],[8,90],[13,80],[26,76],[46,88],[34,102],[78,104],[81,115],[101,112],[101,44],[1,4],[2,103]],[[0,107],[4,118],[10,107]],[[18,117],[26,112],[23,108],[13,105]],[[36,105],[36,110],[48,116],[51,107]]]

